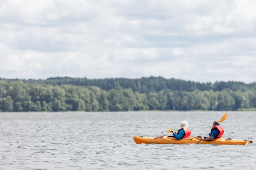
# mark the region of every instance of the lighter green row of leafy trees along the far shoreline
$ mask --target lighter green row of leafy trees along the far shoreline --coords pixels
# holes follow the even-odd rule
[[[255,90],[181,91],[168,88],[147,93],[123,88],[51,85],[0,80],[0,112],[238,110],[256,107]]]

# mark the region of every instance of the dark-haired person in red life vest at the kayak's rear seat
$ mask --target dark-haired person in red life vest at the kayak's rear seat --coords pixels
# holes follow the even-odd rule
[[[220,138],[224,133],[224,129],[220,126],[220,121],[214,121],[209,137],[201,137],[201,140],[211,141],[213,139]]]

